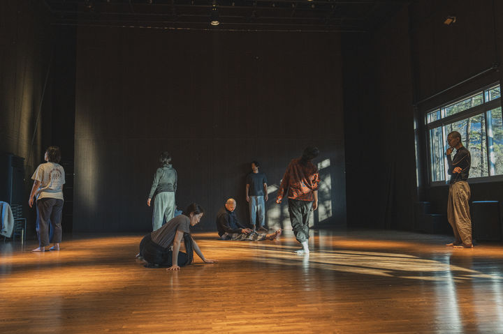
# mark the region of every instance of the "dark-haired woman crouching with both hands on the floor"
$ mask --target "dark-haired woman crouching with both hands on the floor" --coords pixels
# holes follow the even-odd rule
[[[203,215],[203,208],[199,204],[190,204],[182,215],[143,237],[137,257],[143,258],[149,266],[168,267],[169,271],[178,271],[181,266],[191,264],[194,251],[205,264],[218,262],[206,259],[190,234],[189,227],[196,225]],[[180,252],[182,239],[186,252]]]

